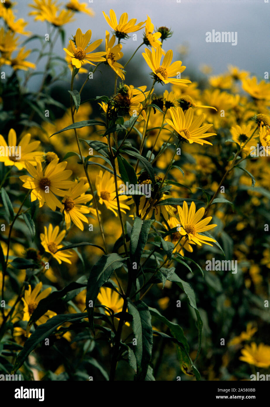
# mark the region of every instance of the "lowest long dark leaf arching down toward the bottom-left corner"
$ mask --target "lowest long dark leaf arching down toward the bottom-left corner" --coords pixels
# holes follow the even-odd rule
[[[48,338],[54,333],[60,325],[64,322],[77,322],[85,317],[86,313],[55,315],[48,319],[45,324],[39,325],[30,338],[27,339],[24,348],[18,354],[11,374],[14,374],[22,366],[30,352],[32,352],[40,342],[44,341],[45,338]]]

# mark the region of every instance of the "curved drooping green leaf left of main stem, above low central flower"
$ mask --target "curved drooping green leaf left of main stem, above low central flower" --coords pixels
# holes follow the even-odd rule
[[[127,258],[120,257],[117,253],[103,255],[98,262],[91,268],[90,276],[87,282],[86,309],[89,324],[95,335],[94,329],[94,307],[98,298],[100,287],[109,280],[113,271],[119,269]],[[89,307],[89,301],[93,301],[93,306]]]

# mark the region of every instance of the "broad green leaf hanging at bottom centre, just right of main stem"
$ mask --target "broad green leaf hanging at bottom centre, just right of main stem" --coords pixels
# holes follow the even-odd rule
[[[142,301],[133,303],[128,298],[128,312],[133,316],[132,328],[137,345],[134,354],[137,362],[136,380],[146,380],[148,366],[152,357],[153,330],[148,306]]]

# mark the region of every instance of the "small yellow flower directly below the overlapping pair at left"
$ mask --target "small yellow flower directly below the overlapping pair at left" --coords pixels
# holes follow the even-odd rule
[[[59,226],[56,226],[53,229],[51,223],[49,224],[48,230],[46,226],[44,226],[44,233],[40,234],[41,245],[46,252],[50,253],[51,256],[58,261],[59,264],[61,264],[62,261],[71,264],[69,257],[72,257],[72,253],[69,250],[61,250],[61,252],[57,252],[58,249],[64,247],[64,245],[61,245],[61,241],[64,239],[65,234],[65,230],[62,230],[59,233]]]

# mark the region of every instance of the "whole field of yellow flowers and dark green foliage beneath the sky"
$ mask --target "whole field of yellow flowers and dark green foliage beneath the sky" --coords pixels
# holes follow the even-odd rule
[[[269,375],[268,72],[196,81],[150,16],[28,7],[0,2],[0,377]]]

